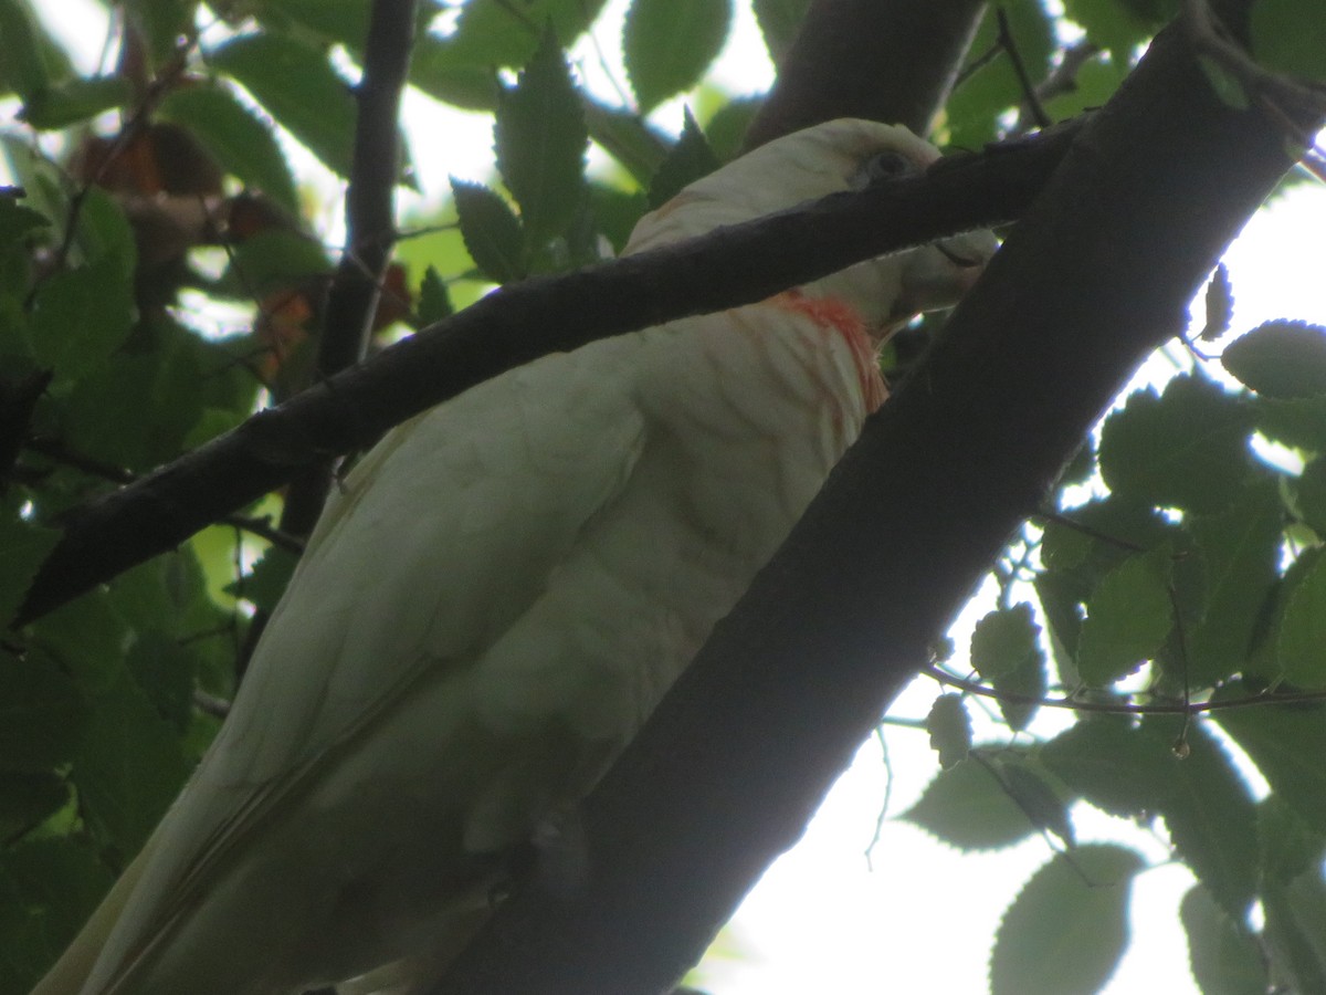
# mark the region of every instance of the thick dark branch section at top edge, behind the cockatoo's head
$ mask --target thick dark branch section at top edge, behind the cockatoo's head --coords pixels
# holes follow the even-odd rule
[[[843,117],[926,134],[984,9],[984,0],[814,0],[747,149]]]

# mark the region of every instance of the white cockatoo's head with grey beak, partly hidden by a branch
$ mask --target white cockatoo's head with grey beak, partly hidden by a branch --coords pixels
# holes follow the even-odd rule
[[[829,194],[918,175],[939,150],[906,127],[842,118],[769,142],[711,172],[635,227],[626,253],[696,237]],[[858,263],[802,287],[850,304],[876,341],[914,314],[955,304],[976,281],[997,243],[967,232]]]

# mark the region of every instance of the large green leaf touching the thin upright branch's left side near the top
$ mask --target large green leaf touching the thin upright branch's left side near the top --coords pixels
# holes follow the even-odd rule
[[[284,34],[241,34],[207,61],[235,77],[329,170],[350,175],[354,97],[326,54]]]

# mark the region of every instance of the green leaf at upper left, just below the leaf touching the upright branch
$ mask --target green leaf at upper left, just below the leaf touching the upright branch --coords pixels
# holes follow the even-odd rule
[[[272,134],[235,96],[220,86],[171,90],[158,114],[184,125],[221,168],[251,190],[260,190],[286,211],[298,214],[300,198],[290,166]]]

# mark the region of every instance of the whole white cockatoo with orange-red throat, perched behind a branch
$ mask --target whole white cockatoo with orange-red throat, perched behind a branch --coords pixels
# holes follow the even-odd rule
[[[900,127],[819,125],[691,184],[626,252],[936,158]],[[993,249],[953,237],[546,356],[391,431],[333,495],[216,742],[36,992],[435,971],[883,402],[882,338]]]

